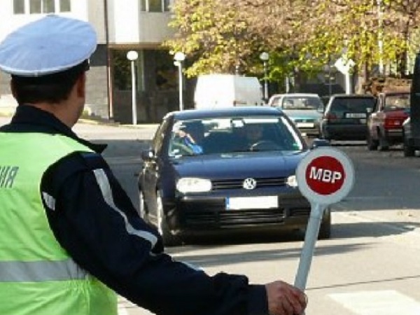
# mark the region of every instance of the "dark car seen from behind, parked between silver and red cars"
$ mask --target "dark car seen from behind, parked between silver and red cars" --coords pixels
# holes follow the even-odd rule
[[[321,137],[328,140],[366,140],[367,117],[375,97],[368,94],[333,94],[321,120]]]

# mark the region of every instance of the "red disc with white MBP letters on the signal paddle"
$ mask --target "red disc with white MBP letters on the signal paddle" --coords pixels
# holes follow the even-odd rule
[[[320,195],[330,195],[342,188],[346,173],[339,160],[332,156],[320,156],[309,162],[306,181],[311,190]]]

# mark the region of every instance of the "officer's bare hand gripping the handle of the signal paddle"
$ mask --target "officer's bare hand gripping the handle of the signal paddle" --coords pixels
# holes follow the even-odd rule
[[[306,295],[283,281],[265,285],[270,315],[300,315],[307,307]]]

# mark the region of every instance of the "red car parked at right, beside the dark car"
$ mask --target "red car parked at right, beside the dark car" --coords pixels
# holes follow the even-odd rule
[[[402,144],[402,123],[409,116],[409,92],[393,91],[378,94],[377,103],[367,119],[367,148],[386,151]]]

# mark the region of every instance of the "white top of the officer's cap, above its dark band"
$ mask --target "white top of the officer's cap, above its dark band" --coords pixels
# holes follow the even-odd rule
[[[57,73],[88,59],[96,46],[96,32],[88,22],[46,15],[0,43],[0,69],[27,77]]]

